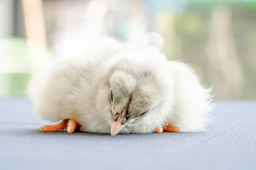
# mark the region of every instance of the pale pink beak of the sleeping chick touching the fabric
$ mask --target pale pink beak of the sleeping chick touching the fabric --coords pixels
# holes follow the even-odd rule
[[[125,115],[117,114],[112,120],[111,126],[111,135],[115,136],[117,133],[126,126],[126,117]]]

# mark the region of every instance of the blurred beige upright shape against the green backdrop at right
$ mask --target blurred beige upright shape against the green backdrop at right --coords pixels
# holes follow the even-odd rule
[[[208,77],[221,99],[240,98],[243,87],[243,68],[238,60],[231,20],[229,8],[213,9],[207,43]]]

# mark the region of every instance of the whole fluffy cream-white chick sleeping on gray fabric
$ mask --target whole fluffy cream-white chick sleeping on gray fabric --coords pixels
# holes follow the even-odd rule
[[[159,50],[105,39],[83,57],[58,60],[29,83],[34,113],[84,132],[195,132],[209,122],[211,91],[187,64]]]

